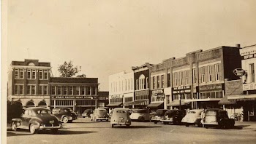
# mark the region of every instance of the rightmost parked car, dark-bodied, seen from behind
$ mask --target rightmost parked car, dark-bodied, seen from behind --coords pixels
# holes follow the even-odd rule
[[[228,118],[227,111],[218,108],[211,108],[206,110],[201,123],[203,124],[203,127],[206,127],[206,129],[208,127],[226,129],[234,127],[235,120]]]

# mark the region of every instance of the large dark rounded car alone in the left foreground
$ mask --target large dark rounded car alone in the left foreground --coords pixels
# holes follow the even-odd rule
[[[12,119],[12,130],[29,129],[34,134],[39,129],[51,129],[53,134],[61,128],[61,121],[48,108],[26,108],[20,119]]]

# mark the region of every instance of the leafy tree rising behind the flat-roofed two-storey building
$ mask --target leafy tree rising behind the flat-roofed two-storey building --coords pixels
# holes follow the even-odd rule
[[[81,67],[78,68],[78,66],[74,66],[71,60],[69,63],[65,61],[64,64],[58,66],[58,71],[61,77],[75,76],[75,74],[78,73],[80,69]]]

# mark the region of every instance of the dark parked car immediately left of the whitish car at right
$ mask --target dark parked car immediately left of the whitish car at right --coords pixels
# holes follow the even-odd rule
[[[184,117],[184,111],[181,110],[168,110],[165,112],[165,116],[162,117],[161,121],[164,124],[181,124],[181,119]]]

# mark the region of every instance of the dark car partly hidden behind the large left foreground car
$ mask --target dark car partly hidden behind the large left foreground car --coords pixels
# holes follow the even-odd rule
[[[53,115],[64,123],[78,119],[77,114],[71,108],[53,108]]]

